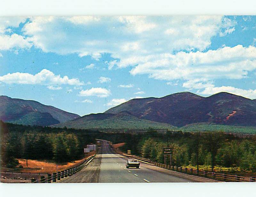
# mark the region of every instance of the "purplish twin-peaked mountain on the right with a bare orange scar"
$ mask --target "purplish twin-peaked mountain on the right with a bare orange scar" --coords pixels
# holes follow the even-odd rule
[[[197,122],[256,126],[256,101],[227,92],[209,97],[181,92],[162,98],[132,99],[105,113],[118,114],[122,111],[140,119],[177,127]]]

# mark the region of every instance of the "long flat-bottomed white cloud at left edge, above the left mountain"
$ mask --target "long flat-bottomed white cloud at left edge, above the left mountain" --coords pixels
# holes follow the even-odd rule
[[[47,69],[41,70],[39,73],[32,75],[29,73],[8,73],[7,75],[0,76],[0,82],[3,83],[17,83],[17,84],[41,84],[41,85],[83,85],[77,78],[69,79],[68,76],[60,77],[55,75]]]

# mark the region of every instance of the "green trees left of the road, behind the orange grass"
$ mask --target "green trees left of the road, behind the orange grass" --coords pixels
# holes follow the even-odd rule
[[[7,167],[15,167],[16,158],[61,163],[75,161],[82,154],[80,141],[73,133],[11,132],[1,141],[1,164]]]

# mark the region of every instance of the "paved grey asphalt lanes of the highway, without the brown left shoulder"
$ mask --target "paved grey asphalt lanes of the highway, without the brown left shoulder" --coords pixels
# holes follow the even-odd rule
[[[142,162],[140,162],[140,169],[126,169],[127,158],[114,154],[105,140],[102,140],[102,154],[99,156],[101,156],[99,183],[191,182],[191,180],[148,169],[146,168],[148,164]]]

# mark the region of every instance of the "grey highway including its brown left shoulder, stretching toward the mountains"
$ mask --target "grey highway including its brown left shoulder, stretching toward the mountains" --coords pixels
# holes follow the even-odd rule
[[[149,165],[142,162],[140,162],[140,169],[126,169],[126,161],[126,157],[115,154],[108,142],[102,140],[100,153],[81,171],[64,179],[61,183],[193,182],[154,169],[148,169]]]

